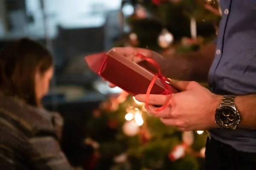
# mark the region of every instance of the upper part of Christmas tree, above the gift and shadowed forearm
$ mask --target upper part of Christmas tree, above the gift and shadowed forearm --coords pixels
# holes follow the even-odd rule
[[[215,0],[132,0],[122,11],[124,36],[116,45],[157,52],[197,50],[215,38],[221,18]]]

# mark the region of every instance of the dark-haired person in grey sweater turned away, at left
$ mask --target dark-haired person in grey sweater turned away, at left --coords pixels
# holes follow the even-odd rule
[[[52,74],[52,56],[37,42],[0,51],[0,169],[73,169],[59,144],[61,116],[41,107]]]

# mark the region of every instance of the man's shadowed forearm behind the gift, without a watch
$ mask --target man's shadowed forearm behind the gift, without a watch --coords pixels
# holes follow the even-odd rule
[[[162,73],[172,79],[207,82],[215,48],[215,44],[210,44],[192,53],[166,56],[159,61]]]

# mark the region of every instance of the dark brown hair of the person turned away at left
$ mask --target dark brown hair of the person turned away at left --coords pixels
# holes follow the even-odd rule
[[[51,54],[37,42],[27,38],[11,42],[0,51],[0,91],[39,106],[35,73],[39,70],[44,74],[52,64]]]

